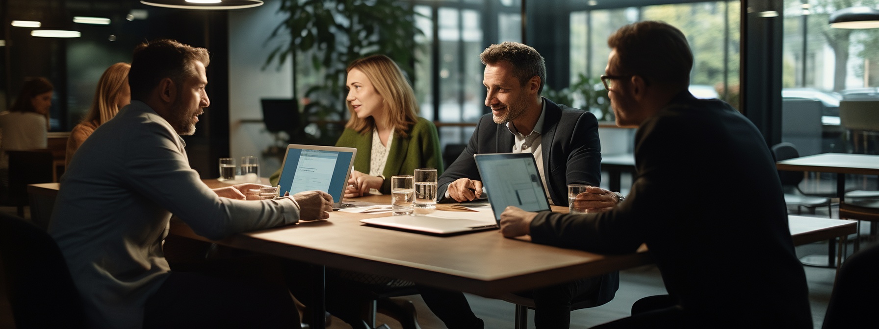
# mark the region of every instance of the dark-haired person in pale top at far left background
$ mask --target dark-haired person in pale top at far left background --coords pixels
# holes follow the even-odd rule
[[[36,77],[25,81],[9,111],[0,113],[0,188],[9,186],[9,157],[6,151],[47,147],[52,82]]]

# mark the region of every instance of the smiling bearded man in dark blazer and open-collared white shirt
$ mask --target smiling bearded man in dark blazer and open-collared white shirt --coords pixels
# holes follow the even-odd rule
[[[601,172],[598,122],[590,112],[557,105],[541,97],[546,65],[534,48],[515,42],[491,45],[480,54],[485,64],[485,105],[469,145],[439,176],[440,201],[468,201],[482,195],[473,154],[531,153],[552,204],[568,205],[567,184],[598,185]],[[518,173],[510,173],[517,175]],[[614,272],[524,292],[534,298],[537,328],[567,328],[570,301],[589,294],[597,304],[614,298]],[[481,328],[461,292],[419,287],[425,303],[449,328]]]

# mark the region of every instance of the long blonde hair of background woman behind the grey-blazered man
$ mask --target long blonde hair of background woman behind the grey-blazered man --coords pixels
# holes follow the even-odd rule
[[[98,121],[98,125],[104,125],[107,120],[119,113],[117,100],[122,89],[128,84],[128,63],[116,63],[107,68],[98,80],[98,88],[95,89],[95,97],[91,99],[89,113],[83,118],[84,122]]]

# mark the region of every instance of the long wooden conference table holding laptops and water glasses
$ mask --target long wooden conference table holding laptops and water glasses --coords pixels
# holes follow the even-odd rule
[[[205,180],[208,186],[223,186]],[[58,183],[33,184],[33,197],[57,193]],[[388,196],[364,197],[362,201],[388,203]],[[41,204],[47,203],[44,200]],[[553,207],[554,211],[567,211]],[[47,210],[51,211],[51,210]],[[505,239],[497,230],[449,237],[402,232],[362,225],[360,219],[389,214],[360,214],[334,211],[327,221],[304,222],[257,232],[244,232],[218,244],[273,254],[323,267],[366,274],[386,275],[484,297],[531,290],[581,277],[602,275],[649,264],[650,254],[642,247],[635,254],[602,255],[530,243],[527,239]],[[846,220],[791,216],[790,230],[795,244],[845,237],[855,224]],[[171,234],[207,240],[178,220],[171,222]],[[316,284],[321,289],[323,284]],[[323,322],[323,305],[316,305],[313,319]],[[316,327],[323,324],[316,323]]]

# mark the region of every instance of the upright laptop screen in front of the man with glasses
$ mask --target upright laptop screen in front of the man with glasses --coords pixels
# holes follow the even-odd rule
[[[524,211],[550,210],[534,154],[475,154],[473,158],[498,223],[508,205]]]

